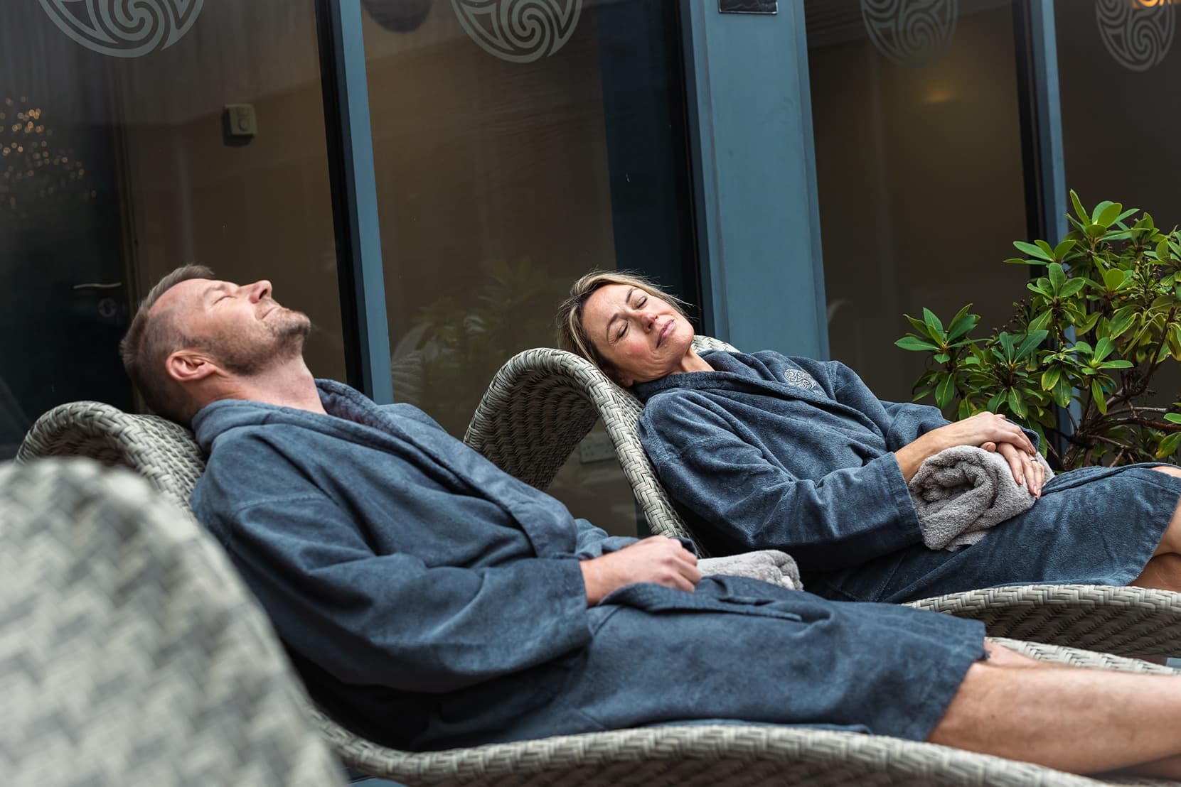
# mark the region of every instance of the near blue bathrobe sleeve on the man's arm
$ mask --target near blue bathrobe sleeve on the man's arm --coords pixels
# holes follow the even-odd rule
[[[450,691],[590,641],[573,556],[468,569],[376,555],[348,512],[261,439],[218,446],[216,458],[198,517],[228,540],[280,635],[342,681]],[[235,479],[260,466],[266,496]]]

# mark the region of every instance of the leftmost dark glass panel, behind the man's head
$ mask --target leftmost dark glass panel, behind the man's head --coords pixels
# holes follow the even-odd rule
[[[118,341],[187,262],[274,281],[344,376],[311,0],[5,2],[0,45],[0,458],[54,405],[135,408]]]

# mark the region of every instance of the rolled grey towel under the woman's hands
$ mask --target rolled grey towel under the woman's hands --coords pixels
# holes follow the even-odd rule
[[[1053,478],[1040,454],[1037,460],[1045,479]],[[908,486],[922,540],[933,550],[974,544],[988,527],[1035,503],[1026,486],[1013,480],[1004,457],[976,446],[954,446],[928,457]]]

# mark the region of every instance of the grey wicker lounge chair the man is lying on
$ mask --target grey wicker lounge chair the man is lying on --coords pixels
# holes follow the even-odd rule
[[[187,429],[154,415],[130,415],[98,402],[63,405],[43,415],[21,445],[18,461],[33,463],[39,457],[52,455],[85,455],[107,465],[131,467],[148,478],[163,497],[185,505],[193,484],[203,470],[201,453]],[[21,472],[37,472],[40,464],[43,463],[31,464]],[[19,483],[15,488],[20,488]],[[4,492],[0,491],[0,497],[2,496]],[[51,491],[39,496],[39,499],[57,497]],[[191,516],[181,511],[174,511],[172,514],[168,527],[178,533],[175,537],[177,552],[172,558],[183,564],[187,571],[208,571],[207,584],[239,595],[237,606],[253,604],[253,599],[244,601],[247,595],[241,591],[241,583],[229,576],[224,557],[211,555],[218,549],[213,539],[200,530]],[[194,549],[198,542],[202,546]],[[12,553],[11,550],[5,550],[0,556]],[[120,568],[135,571],[136,566],[137,563],[129,560]],[[0,597],[4,597],[2,579],[0,576]],[[137,585],[139,582],[136,577]],[[257,643],[259,638],[265,638],[270,643],[266,647],[273,650],[276,647],[272,640],[273,634],[269,627],[257,624],[260,618],[256,610],[246,610],[242,615],[253,628],[248,642]],[[8,625],[0,628],[0,643],[4,642],[2,632],[7,629]],[[1038,658],[1082,667],[1142,673],[1174,671],[1141,661],[1072,648],[1009,641],[1005,644]],[[0,654],[18,651],[19,643],[0,650]],[[2,663],[4,660],[0,658],[0,664]],[[5,681],[6,676],[0,674],[0,689],[5,688]],[[932,743],[775,726],[647,727],[412,753],[367,741],[319,710],[309,708],[308,713],[319,727],[320,735],[345,763],[373,776],[407,785],[1084,787],[1111,783]],[[0,770],[5,763],[4,756],[8,755],[5,746],[6,741],[0,736]],[[52,781],[35,783],[54,785]],[[207,783],[231,782],[210,780]],[[1181,785],[1162,780],[1124,780],[1118,783]]]

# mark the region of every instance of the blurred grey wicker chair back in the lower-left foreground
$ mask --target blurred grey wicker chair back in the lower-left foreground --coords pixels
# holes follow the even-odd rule
[[[5,783],[344,783],[224,555],[142,478],[9,463],[0,523]]]

